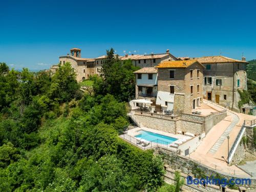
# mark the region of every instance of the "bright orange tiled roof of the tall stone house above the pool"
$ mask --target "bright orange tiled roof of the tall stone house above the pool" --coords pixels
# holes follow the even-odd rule
[[[196,59],[190,59],[190,60],[175,60],[175,61],[163,61],[155,68],[187,68],[188,66],[191,66],[192,64],[198,62]],[[198,62],[200,65],[202,65],[200,62]]]

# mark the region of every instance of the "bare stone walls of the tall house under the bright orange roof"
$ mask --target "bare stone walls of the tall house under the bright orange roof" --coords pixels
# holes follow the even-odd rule
[[[186,68],[157,68],[158,91],[170,92],[170,86],[174,86],[174,112],[191,113],[193,108],[200,106],[203,97],[203,67],[199,62]],[[170,79],[171,70],[174,71],[173,79]]]

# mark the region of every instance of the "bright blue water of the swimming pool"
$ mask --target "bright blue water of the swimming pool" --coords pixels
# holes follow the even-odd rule
[[[140,131],[140,134],[136,135],[135,137],[140,139],[145,139],[147,141],[161,143],[161,144],[170,144],[177,140],[176,138],[173,138],[173,137],[168,137],[168,136],[164,136],[164,135],[160,135],[160,134],[152,133],[148,131]]]

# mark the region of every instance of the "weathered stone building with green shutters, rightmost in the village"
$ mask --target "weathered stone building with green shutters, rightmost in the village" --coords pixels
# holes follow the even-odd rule
[[[247,89],[246,64],[242,60],[224,56],[207,56],[196,58],[205,67],[204,98],[239,112],[238,90]]]

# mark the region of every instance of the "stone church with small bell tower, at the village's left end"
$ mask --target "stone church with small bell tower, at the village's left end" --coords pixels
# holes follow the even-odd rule
[[[73,71],[76,73],[78,82],[87,79],[90,75],[95,74],[95,59],[82,58],[81,50],[73,48],[66,56],[59,57],[59,63],[63,65],[65,62],[70,62]],[[56,71],[56,69],[54,69]],[[53,70],[51,70],[54,73]]]

